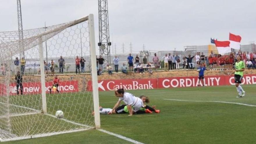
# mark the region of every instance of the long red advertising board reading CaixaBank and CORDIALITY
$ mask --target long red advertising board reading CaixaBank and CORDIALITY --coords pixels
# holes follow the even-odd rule
[[[234,76],[205,76],[202,82],[198,77],[170,77],[158,79],[118,79],[98,81],[99,91],[108,91],[118,88],[125,90],[156,89],[156,88],[180,88],[195,87],[204,84],[205,86],[234,85]],[[244,75],[241,84],[256,84],[256,74]],[[88,81],[87,90],[92,91],[92,81]]]

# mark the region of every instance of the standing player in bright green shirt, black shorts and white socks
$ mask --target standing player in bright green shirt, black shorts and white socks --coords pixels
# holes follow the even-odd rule
[[[235,84],[237,87],[237,92],[238,92],[238,97],[244,97],[245,96],[245,91],[243,90],[243,88],[239,85],[243,79],[243,71],[245,68],[245,64],[243,61],[241,61],[241,56],[237,55],[237,62],[236,62],[236,70],[235,70]]]

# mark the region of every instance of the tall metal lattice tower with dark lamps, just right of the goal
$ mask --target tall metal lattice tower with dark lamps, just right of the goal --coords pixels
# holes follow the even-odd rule
[[[109,14],[108,14],[108,1],[98,0],[99,8],[99,54],[106,55],[108,63],[110,60],[110,46],[109,40]]]

